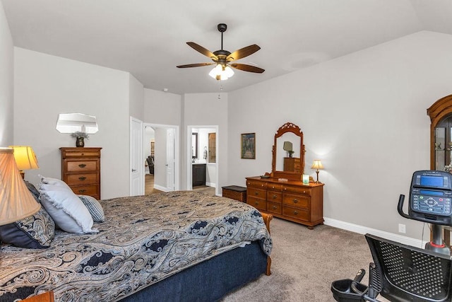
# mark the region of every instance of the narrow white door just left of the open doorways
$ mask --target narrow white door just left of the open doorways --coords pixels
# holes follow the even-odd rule
[[[130,132],[130,196],[143,195],[143,122],[131,117]]]

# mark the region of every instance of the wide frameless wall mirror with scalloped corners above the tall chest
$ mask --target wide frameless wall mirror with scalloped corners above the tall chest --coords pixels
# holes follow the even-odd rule
[[[83,113],[60,113],[57,120],[57,130],[60,133],[85,132],[87,134],[96,133],[96,117],[84,115]]]

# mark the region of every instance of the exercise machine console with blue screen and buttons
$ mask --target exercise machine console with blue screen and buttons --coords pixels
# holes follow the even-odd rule
[[[429,223],[452,223],[452,174],[421,170],[412,175],[410,207],[412,219]]]

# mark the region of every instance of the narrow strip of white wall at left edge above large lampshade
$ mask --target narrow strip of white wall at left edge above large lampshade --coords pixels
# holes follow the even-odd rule
[[[0,147],[13,144],[13,38],[0,1]]]

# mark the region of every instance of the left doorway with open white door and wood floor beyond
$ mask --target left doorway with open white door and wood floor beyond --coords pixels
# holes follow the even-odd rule
[[[179,126],[143,124],[144,192],[179,190]]]

